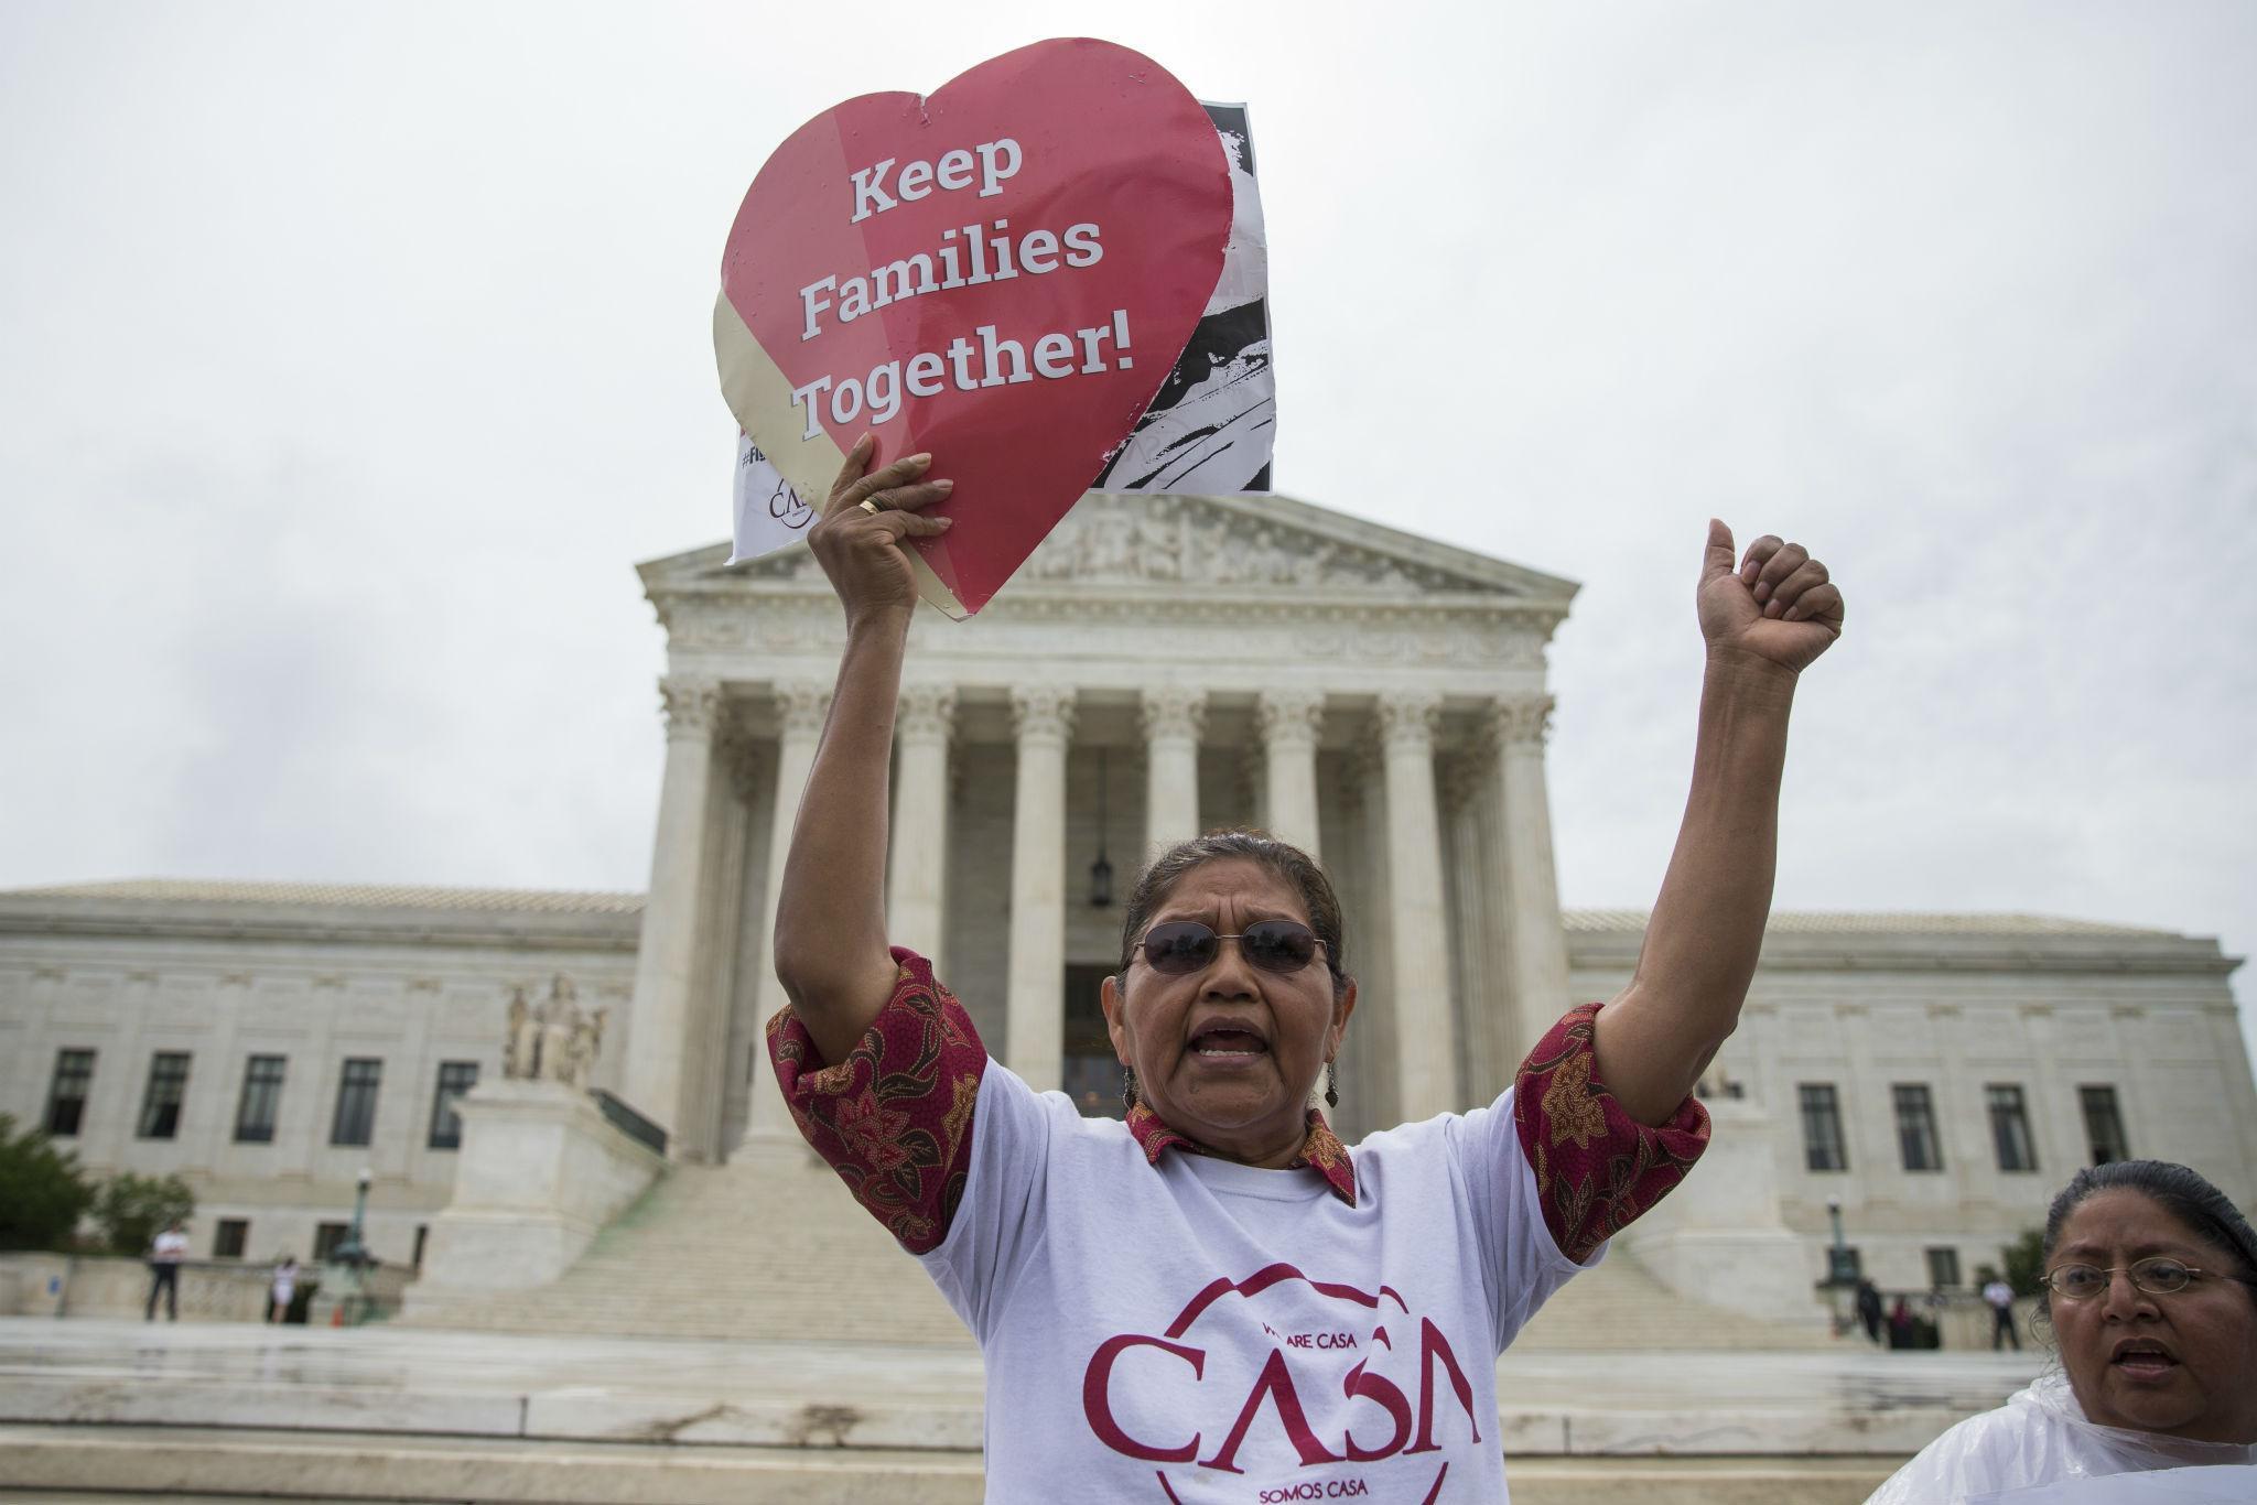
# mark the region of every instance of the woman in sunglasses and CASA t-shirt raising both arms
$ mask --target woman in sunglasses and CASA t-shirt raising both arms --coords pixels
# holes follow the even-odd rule
[[[1706,1146],[1690,1092],[1756,968],[1797,675],[1842,630],[1826,566],[1709,526],[1693,794],[1636,977],[1496,1103],[1350,1151],[1316,1106],[1356,1011],[1347,934],[1284,842],[1214,833],[1138,878],[1101,995],[1126,1121],[991,1060],[887,945],[905,539],[946,528],[921,508],[948,481],[928,456],[864,474],[869,454],[810,530],[846,650],[767,1040],[801,1133],[980,1338],[989,1498],[1505,1498],[1499,1352]]]

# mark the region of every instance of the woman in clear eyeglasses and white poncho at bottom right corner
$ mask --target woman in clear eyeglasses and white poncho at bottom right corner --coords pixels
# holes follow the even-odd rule
[[[2061,1367],[1867,1505],[2201,1464],[2234,1469],[2201,1498],[2257,1498],[2257,1232],[2223,1191],[2164,1160],[2079,1171],[2045,1216],[2038,1318]]]

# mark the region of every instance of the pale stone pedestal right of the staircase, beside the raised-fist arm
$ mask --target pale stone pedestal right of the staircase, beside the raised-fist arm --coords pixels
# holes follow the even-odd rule
[[[1679,1295],[1765,1322],[1826,1329],[1810,1252],[1779,1216],[1772,1115],[1749,1101],[1706,1103],[1709,1153],[1686,1182],[1616,1239]]]

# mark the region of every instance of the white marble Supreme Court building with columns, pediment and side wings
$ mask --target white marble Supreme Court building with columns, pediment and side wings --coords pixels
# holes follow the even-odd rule
[[[95,1171],[187,1176],[196,1255],[302,1257],[366,1164],[370,1246],[409,1261],[454,1196],[454,1101],[501,1074],[512,993],[562,975],[607,1011],[594,1083],[673,1162],[797,1144],[763,1051],[767,936],[842,621],[803,548],[724,560],[641,566],[668,634],[648,896],[0,894],[0,1112]],[[1557,900],[1544,648],[1573,593],[1289,499],[1086,496],[977,618],[912,627],[896,941],[1011,1070],[1117,1112],[1097,982],[1142,855],[1266,826],[1347,914],[1343,1137],[1490,1101],[1643,936],[1643,914]],[[2126,1155],[2257,1203],[2216,941],[1779,900],[1706,1083],[1715,1148],[1632,1259],[1711,1288],[1783,1252],[1783,1284],[1817,1279],[1835,1203],[1885,1286],[1961,1286],[2076,1167]]]

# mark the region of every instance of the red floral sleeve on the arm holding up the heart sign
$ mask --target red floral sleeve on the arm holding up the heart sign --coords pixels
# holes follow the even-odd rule
[[[846,1060],[824,1065],[790,1009],[767,1022],[767,1058],[815,1153],[912,1255],[948,1236],[973,1153],[986,1047],[932,963],[894,948],[894,997]]]

